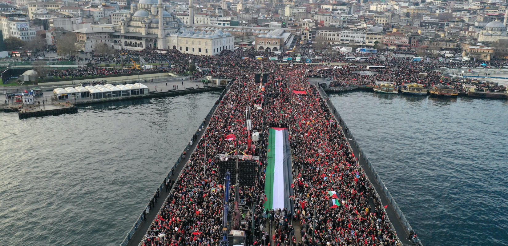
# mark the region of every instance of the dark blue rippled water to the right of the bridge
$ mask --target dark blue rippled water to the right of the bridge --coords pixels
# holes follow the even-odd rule
[[[329,97],[425,245],[508,245],[506,101]]]

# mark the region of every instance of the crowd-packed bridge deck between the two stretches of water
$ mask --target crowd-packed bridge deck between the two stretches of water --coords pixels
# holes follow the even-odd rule
[[[265,68],[271,72],[262,83],[250,69],[228,85],[121,245],[421,244],[390,212],[396,205],[366,171],[351,133],[332,120],[337,109],[307,81],[305,67]],[[278,131],[287,131],[287,141]],[[277,157],[286,145],[289,153]],[[253,157],[253,184],[230,186],[238,181],[221,165],[242,159],[242,169]],[[270,177],[286,161],[289,175],[277,184],[291,188],[277,193]]]

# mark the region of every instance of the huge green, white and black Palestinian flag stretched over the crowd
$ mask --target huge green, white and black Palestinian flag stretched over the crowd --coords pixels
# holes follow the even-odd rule
[[[268,165],[265,176],[264,204],[266,209],[293,210],[293,177],[291,175],[291,147],[287,128],[270,128],[268,134]]]

